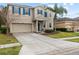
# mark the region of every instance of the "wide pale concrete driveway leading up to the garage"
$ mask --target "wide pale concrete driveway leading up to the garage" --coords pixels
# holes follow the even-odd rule
[[[79,43],[57,40],[36,33],[13,35],[23,45],[20,55],[62,55],[79,51]]]

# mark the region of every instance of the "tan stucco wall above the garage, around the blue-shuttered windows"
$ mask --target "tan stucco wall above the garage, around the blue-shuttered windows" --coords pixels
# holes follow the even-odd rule
[[[12,14],[12,6],[9,6],[9,12],[8,16],[12,20],[12,23],[32,23],[32,9],[31,10],[31,15],[19,15],[19,14]],[[21,14],[23,13],[23,9],[21,8]]]

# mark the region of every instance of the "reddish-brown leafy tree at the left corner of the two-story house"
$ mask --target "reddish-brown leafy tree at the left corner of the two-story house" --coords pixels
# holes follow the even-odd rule
[[[8,7],[3,7],[2,11],[0,12],[1,21],[5,23],[7,28],[7,34],[9,34],[9,22],[7,21],[8,17]]]

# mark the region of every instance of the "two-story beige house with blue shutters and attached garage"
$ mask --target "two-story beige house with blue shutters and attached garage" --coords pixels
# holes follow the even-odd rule
[[[10,32],[42,32],[53,30],[54,12],[46,6],[24,6],[8,4],[7,20],[10,22]]]

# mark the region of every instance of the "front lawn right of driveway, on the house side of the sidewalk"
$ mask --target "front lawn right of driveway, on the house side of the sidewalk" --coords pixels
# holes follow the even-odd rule
[[[75,32],[59,32],[56,34],[49,34],[48,35],[51,38],[65,38],[65,37],[74,37],[74,36],[79,36],[79,33]]]

